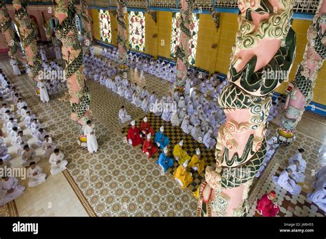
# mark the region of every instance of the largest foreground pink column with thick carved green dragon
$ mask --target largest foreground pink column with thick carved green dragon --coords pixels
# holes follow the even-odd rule
[[[295,54],[290,27],[294,0],[239,0],[239,30],[228,80],[219,104],[226,123],[219,128],[216,165],[207,167],[197,216],[244,216],[254,175],[266,153],[265,132],[272,93],[287,78]],[[281,77],[266,72],[281,71]]]

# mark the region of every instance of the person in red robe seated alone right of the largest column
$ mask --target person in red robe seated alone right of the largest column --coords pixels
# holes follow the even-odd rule
[[[259,214],[263,216],[276,216],[276,214],[279,212],[279,206],[277,203],[273,202],[275,198],[275,192],[272,191],[269,194],[264,194],[261,199],[257,200],[257,210],[259,211]]]

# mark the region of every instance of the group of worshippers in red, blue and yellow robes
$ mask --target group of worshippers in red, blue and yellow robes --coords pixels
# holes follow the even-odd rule
[[[193,170],[193,172],[197,171],[198,173],[204,170],[205,162],[201,157],[199,148],[196,149],[195,154],[191,157],[182,148],[183,140],[174,146],[172,152],[173,157],[171,157],[168,148],[170,140],[164,134],[164,126],[161,126],[160,130],[154,133],[147,116],[144,117],[139,128],[136,126],[135,120],[131,121],[131,126],[128,129],[125,141],[132,146],[142,144],[142,151],[148,157],[152,157],[158,149],[162,150],[156,161],[157,165],[161,168],[162,175],[173,166],[174,160],[177,161],[179,166],[173,175],[182,188],[187,187],[193,181],[193,173],[188,172],[188,169]]]

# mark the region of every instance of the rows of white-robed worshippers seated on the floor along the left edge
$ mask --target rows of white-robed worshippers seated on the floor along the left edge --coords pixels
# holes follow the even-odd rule
[[[7,137],[11,139],[11,145],[16,148],[17,154],[21,155],[21,166],[27,169],[29,179],[28,186],[35,187],[45,182],[47,175],[43,172],[39,162],[45,159],[50,162],[51,174],[58,174],[65,170],[67,161],[64,159],[63,152],[56,148],[50,135],[42,128],[41,122],[36,119],[30,111],[28,104],[23,101],[21,94],[16,87],[8,80],[7,76],[0,69],[0,117],[3,121]],[[10,106],[10,107],[9,107]],[[16,109],[16,111],[14,111]],[[28,135],[23,133],[23,127],[19,124],[25,123],[25,130],[30,129],[32,137],[36,138],[36,147],[43,150],[41,157],[36,155],[36,151],[29,143]],[[19,185],[19,180],[12,175],[7,175],[8,168],[11,168],[11,155],[8,154],[8,148],[4,142],[4,135],[1,130],[0,137],[0,168],[5,172],[0,183],[0,206],[14,200],[23,192],[25,187]]]

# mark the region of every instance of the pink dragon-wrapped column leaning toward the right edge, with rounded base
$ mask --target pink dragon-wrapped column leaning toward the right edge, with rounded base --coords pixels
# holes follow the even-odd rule
[[[276,132],[279,141],[284,145],[296,139],[296,125],[301,120],[305,106],[312,101],[317,74],[326,58],[325,23],[326,1],[320,0],[312,25],[308,28],[308,43],[303,61],[296,71],[294,83],[290,83],[292,91],[287,95],[285,111]]]

